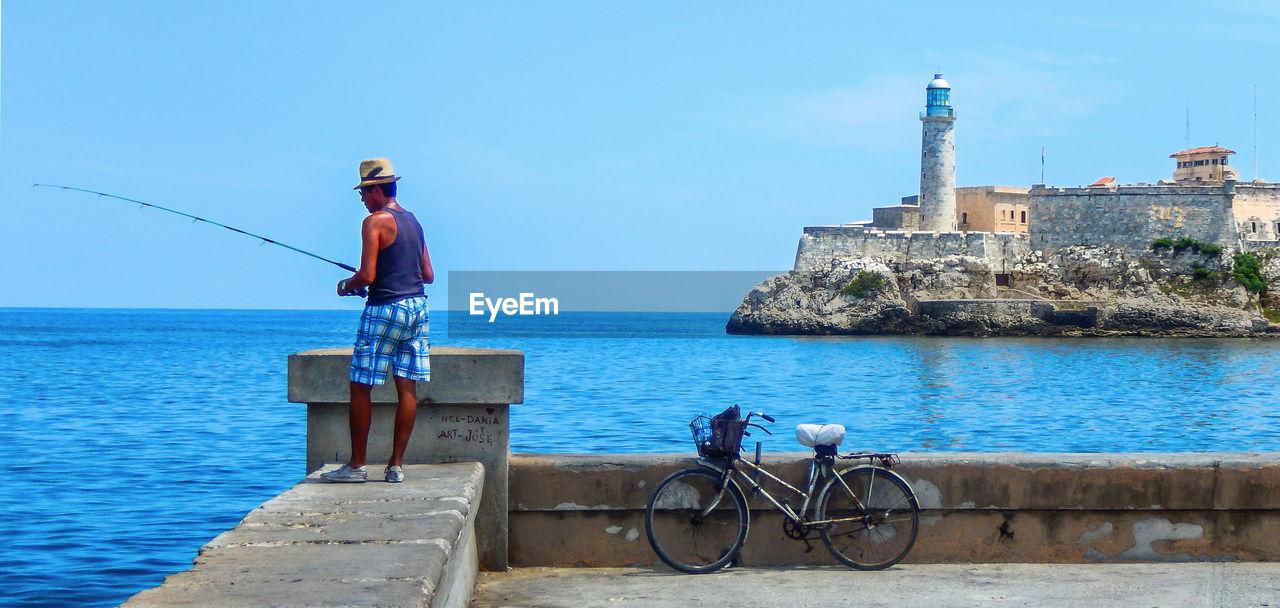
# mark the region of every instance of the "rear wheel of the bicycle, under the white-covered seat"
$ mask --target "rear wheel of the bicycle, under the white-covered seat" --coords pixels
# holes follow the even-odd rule
[[[828,524],[820,524],[832,520]],[[836,559],[856,570],[884,570],[906,557],[920,526],[915,493],[896,472],[850,468],[818,498],[817,526]]]

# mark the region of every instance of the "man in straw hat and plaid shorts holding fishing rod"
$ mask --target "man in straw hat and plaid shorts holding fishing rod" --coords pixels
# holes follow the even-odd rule
[[[428,310],[424,283],[435,280],[426,252],[422,227],[396,202],[399,177],[387,159],[360,163],[360,200],[369,216],[360,229],[360,268],[338,282],[338,296],[356,296],[369,288],[365,312],[351,357],[351,461],[337,471],[321,474],[325,481],[364,483],[365,451],[369,444],[370,393],[387,381],[388,367],[396,383],[398,407],[392,457],[385,479],[404,480],[404,448],[413,433],[417,413],[416,380],[431,379],[428,352]]]

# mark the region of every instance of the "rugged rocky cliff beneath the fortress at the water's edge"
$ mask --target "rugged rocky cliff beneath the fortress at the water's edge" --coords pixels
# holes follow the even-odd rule
[[[1130,256],[1076,246],[1012,268],[982,257],[833,255],[760,283],[733,334],[1280,337],[1280,252],[1258,253],[1260,284],[1230,251]],[[1002,276],[997,287],[997,273]]]

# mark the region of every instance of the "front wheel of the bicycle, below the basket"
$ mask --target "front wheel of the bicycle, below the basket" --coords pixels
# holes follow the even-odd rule
[[[692,575],[714,572],[746,540],[749,512],[732,480],[719,471],[687,468],[662,480],[644,512],[649,544],[667,566]]]

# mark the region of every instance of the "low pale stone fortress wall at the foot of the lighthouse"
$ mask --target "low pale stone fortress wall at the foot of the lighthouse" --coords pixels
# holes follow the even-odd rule
[[[795,270],[813,270],[842,257],[904,262],[947,256],[983,257],[1000,271],[1029,252],[1023,234],[983,232],[897,232],[860,227],[806,227],[796,250]]]

